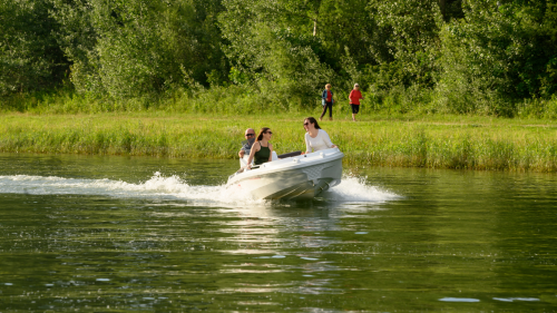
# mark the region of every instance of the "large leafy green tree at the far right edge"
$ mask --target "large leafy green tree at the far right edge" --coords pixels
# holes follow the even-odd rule
[[[442,105],[511,116],[517,100],[555,92],[555,3],[467,3],[465,18],[441,31]]]

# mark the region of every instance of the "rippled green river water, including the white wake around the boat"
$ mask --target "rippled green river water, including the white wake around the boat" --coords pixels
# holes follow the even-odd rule
[[[0,154],[0,312],[557,311],[557,175],[344,168],[265,203],[236,168]]]

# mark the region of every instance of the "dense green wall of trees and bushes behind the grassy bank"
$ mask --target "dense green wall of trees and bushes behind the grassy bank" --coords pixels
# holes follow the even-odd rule
[[[4,109],[299,110],[326,82],[374,110],[556,117],[557,0],[0,0]]]

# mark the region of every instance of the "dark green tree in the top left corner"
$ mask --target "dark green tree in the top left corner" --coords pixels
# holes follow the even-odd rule
[[[0,0],[0,96],[53,88],[69,66],[47,0]]]

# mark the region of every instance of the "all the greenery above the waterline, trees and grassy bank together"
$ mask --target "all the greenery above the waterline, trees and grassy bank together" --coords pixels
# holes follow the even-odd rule
[[[556,0],[19,0],[0,20],[0,151],[233,158],[262,126],[299,150],[331,84],[346,164],[557,172]]]

